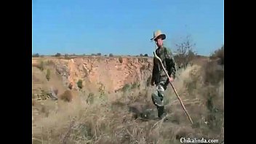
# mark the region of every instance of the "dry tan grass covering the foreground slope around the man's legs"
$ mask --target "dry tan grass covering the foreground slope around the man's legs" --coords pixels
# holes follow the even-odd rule
[[[206,69],[193,65],[178,71],[174,82],[193,125],[169,86],[164,97],[169,121],[140,119],[152,114],[146,110],[152,109],[153,116],[157,114],[151,101],[154,87],[145,87],[145,80],[140,87],[129,87],[123,92],[79,92],[69,100],[71,92],[66,91],[60,97],[69,103],[47,101],[44,111],[39,113],[44,116],[34,121],[33,143],[180,143],[180,137],[221,141],[223,77],[212,83],[206,82],[206,76]],[[209,79],[215,77],[211,75]]]

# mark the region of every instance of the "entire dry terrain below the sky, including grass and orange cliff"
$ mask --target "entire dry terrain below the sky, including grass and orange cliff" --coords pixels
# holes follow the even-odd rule
[[[219,67],[224,65],[203,57],[177,71],[173,84],[191,124],[170,86],[164,97],[169,119],[155,119],[154,87],[148,84],[151,57],[108,58],[33,57],[33,143],[180,143],[181,137],[223,142],[224,71]],[[58,100],[38,100],[36,95],[44,96],[51,87]]]

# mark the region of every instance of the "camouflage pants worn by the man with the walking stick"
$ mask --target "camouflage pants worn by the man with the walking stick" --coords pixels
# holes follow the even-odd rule
[[[156,90],[152,93],[152,101],[153,104],[156,105],[158,116],[161,118],[164,116],[164,91],[166,87],[164,85],[164,81],[161,81],[157,86]]]

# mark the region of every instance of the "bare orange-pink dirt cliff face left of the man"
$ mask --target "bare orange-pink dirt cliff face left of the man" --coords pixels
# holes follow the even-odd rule
[[[115,92],[125,84],[139,83],[151,76],[151,57],[74,57],[69,60],[55,57],[33,59],[32,65],[51,65],[52,71],[61,77],[64,87],[72,85],[79,89],[81,79],[84,87],[98,89],[103,84],[108,92]],[[44,68],[46,69],[46,68]]]

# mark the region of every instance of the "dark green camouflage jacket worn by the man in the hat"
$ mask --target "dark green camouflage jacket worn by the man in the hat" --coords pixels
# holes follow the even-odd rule
[[[166,47],[161,47],[156,49],[156,55],[161,59],[168,75],[175,78],[176,63],[172,55],[172,52],[169,52]],[[164,73],[164,69],[161,68],[161,63],[156,57],[154,57],[151,82],[155,82],[155,84],[159,84],[160,81],[165,81],[165,85],[169,84],[169,79],[167,75]]]

